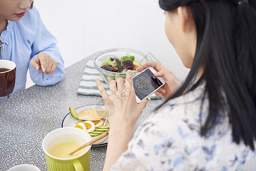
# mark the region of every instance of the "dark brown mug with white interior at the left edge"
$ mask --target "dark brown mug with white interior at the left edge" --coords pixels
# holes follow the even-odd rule
[[[8,96],[15,86],[16,64],[10,60],[0,60],[0,97]]]

